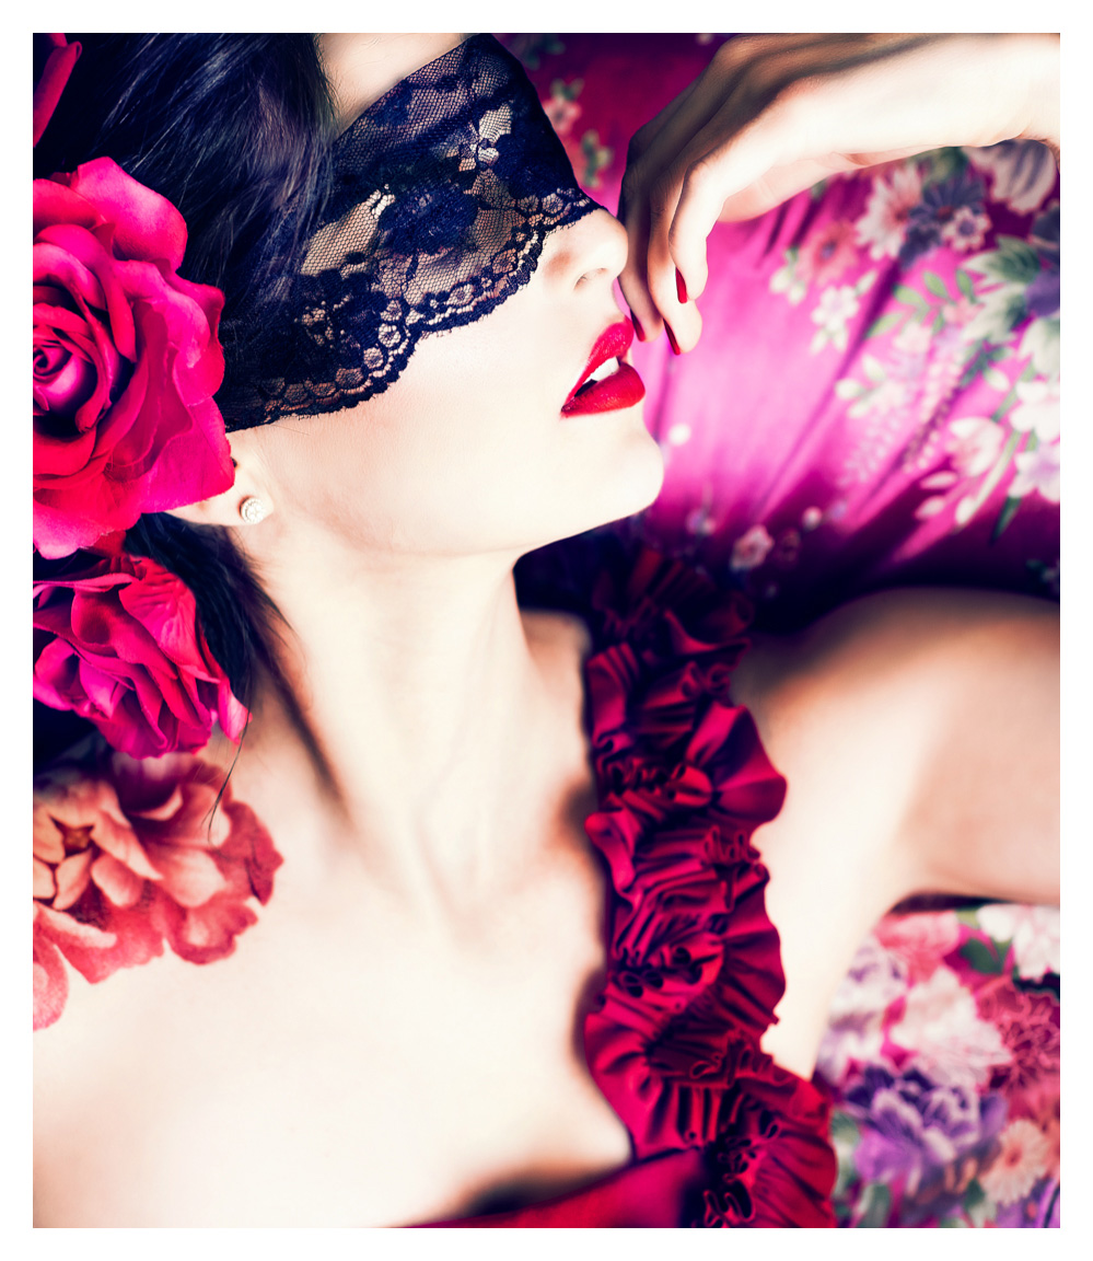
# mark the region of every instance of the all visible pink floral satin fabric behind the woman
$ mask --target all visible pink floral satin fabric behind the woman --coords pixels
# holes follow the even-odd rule
[[[722,35],[504,37],[579,180]],[[870,589],[1059,595],[1059,175],[1035,141],[835,177],[717,224],[703,334],[634,344],[666,482],[619,528],[801,625]],[[845,1226],[1058,1226],[1058,912],[891,914],[819,1071]]]

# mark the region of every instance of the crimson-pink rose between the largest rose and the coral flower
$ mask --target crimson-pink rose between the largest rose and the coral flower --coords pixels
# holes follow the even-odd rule
[[[189,588],[121,554],[34,586],[34,696],[92,721],[135,758],[238,740],[247,711],[213,661]]]

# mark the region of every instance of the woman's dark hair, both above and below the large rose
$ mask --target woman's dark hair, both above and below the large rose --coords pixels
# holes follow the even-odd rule
[[[224,291],[221,338],[232,339],[233,304],[276,279],[270,243],[286,223],[304,231],[321,208],[335,129],[314,37],[68,38],[83,53],[34,151],[35,178],[106,156],[168,198],[187,222],[180,272]],[[129,531],[126,549],[193,590],[209,648],[245,705],[258,666],[284,685],[276,609],[227,531],[160,513]],[[52,744],[43,752],[57,752]]]

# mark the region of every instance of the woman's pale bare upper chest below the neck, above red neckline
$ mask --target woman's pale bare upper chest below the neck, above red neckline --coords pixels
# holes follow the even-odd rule
[[[624,1164],[581,1049],[596,892],[547,884],[459,946],[382,915],[303,932],[274,903],[221,963],[81,986],[57,1029],[82,1053],[39,1050],[39,1217],[401,1224]]]

